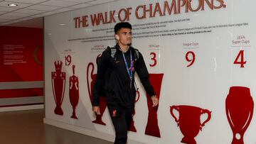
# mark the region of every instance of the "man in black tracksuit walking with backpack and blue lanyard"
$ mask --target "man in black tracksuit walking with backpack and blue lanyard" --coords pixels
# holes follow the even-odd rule
[[[92,92],[92,111],[100,114],[100,95],[104,92],[115,130],[114,144],[127,143],[127,131],[132,121],[136,89],[134,73],[137,72],[153,107],[159,104],[149,82],[149,72],[142,54],[132,48],[132,26],[127,22],[114,26],[117,45],[107,48],[99,59],[97,78]]]

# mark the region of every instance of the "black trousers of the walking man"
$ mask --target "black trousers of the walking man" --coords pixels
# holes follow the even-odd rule
[[[115,139],[114,144],[127,143],[127,131],[132,121],[134,107],[123,108],[119,106],[108,106],[112,123],[114,125]]]

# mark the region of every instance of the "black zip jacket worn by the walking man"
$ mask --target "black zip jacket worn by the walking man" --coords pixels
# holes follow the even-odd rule
[[[111,56],[110,48],[107,48],[100,57],[97,65],[97,78],[95,86],[92,91],[92,106],[100,105],[100,95],[103,91],[107,104],[112,106],[132,107],[134,106],[134,99],[136,96],[136,89],[134,87],[134,72],[137,72],[140,81],[146,92],[153,96],[154,89],[149,82],[149,72],[142,54],[136,55],[134,48],[130,46],[129,50],[124,53],[127,60],[127,65],[130,67],[130,50],[132,50],[132,60],[134,61],[134,71],[132,78],[132,88],[130,87],[129,74],[124,62],[122,51],[117,44],[114,58]]]

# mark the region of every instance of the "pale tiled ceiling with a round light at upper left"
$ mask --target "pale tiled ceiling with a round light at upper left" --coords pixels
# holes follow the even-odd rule
[[[117,0],[0,0],[0,26],[43,28],[43,16],[110,1]]]

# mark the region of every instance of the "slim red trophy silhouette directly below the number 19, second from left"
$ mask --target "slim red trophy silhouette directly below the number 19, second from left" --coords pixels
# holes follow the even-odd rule
[[[70,118],[78,119],[75,115],[75,107],[78,106],[79,100],[79,82],[78,77],[75,76],[75,65],[72,65],[73,68],[73,76],[70,77],[70,85],[69,85],[69,96],[70,96],[70,104],[73,107],[73,114]]]

